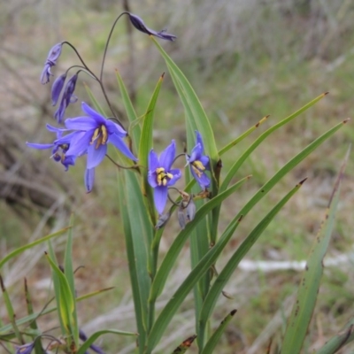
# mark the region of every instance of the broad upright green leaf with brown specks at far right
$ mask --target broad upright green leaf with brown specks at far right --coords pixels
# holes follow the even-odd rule
[[[319,228],[318,235],[313,241],[303,279],[299,283],[296,301],[288,320],[288,326],[281,345],[281,354],[288,354],[289,352],[297,354],[302,349],[307,327],[312,319],[312,312],[319,294],[319,285],[323,273],[323,258],[327,253],[335,224],[335,212],[339,201],[340,185],[345,165],[346,162],[342,165],[341,172],[335,181],[335,188],[330,198],[325,218]]]

